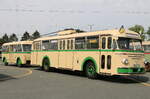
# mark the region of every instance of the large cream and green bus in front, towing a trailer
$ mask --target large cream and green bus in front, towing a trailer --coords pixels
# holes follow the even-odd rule
[[[89,78],[145,73],[144,51],[138,33],[120,29],[77,33],[64,30],[33,41],[31,64],[83,71]]]

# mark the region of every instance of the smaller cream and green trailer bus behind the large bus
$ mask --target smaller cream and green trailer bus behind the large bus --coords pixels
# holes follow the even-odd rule
[[[10,42],[2,45],[2,61],[5,65],[30,64],[32,41]]]

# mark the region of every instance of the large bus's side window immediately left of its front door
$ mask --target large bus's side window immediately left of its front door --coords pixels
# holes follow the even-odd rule
[[[98,49],[99,48],[99,37],[87,37],[87,49]]]

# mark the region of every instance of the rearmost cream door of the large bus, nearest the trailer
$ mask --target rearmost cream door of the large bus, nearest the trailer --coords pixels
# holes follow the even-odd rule
[[[33,43],[33,51],[32,51],[32,55],[31,55],[31,64],[34,65],[40,65],[38,64],[38,51],[41,50],[41,42],[34,42]]]

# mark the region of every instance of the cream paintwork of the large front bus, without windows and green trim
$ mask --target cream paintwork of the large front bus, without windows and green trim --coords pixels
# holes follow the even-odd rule
[[[127,35],[136,35],[136,37],[130,37]],[[127,37],[127,38],[135,38],[141,39],[140,35],[136,32],[125,30],[125,33],[120,33],[119,30],[104,30],[104,31],[96,31],[96,32],[85,32],[85,33],[72,33],[68,35],[58,35],[52,37],[43,37],[34,40],[34,42],[41,42],[43,40],[51,40],[51,39],[73,39],[75,37],[85,37],[85,36],[95,36],[95,35],[107,35],[110,34],[112,38],[117,39],[117,37]],[[106,36],[106,38],[109,36]],[[107,41],[106,41],[107,44]],[[59,45],[59,44],[58,44]],[[100,42],[101,46],[101,42]],[[67,48],[67,46],[65,46]],[[107,50],[107,49],[106,49]],[[110,74],[110,75],[117,75],[117,68],[118,67],[134,67],[134,64],[139,64],[141,67],[144,67],[144,58],[143,53],[135,53],[135,52],[101,52],[101,51],[33,51],[32,56],[36,57],[35,54],[38,53],[37,62],[35,62],[34,58],[31,58],[32,63],[34,65],[42,66],[42,61],[45,56],[49,57],[50,59],[50,66],[55,68],[63,68],[63,69],[71,69],[71,70],[82,70],[83,61],[87,57],[92,57],[97,64],[97,73],[101,74]],[[129,54],[129,55],[122,55],[122,54]],[[133,54],[133,55],[132,55]],[[111,70],[108,69],[101,69],[101,55],[111,55],[112,56],[112,65]],[[131,57],[137,57],[138,59],[132,59]],[[124,65],[122,60],[126,58],[129,60],[128,65]],[[106,63],[107,60],[105,60]],[[105,64],[106,65],[106,64]],[[105,66],[106,67],[106,66]],[[123,74],[126,75],[126,74]]]

